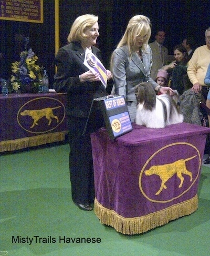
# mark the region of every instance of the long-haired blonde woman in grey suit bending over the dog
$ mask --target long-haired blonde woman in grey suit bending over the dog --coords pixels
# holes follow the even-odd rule
[[[148,45],[150,36],[150,19],[144,15],[133,16],[111,57],[114,94],[125,96],[132,122],[137,111],[135,85],[151,82],[155,91],[173,94],[170,87],[162,87],[150,77],[152,66],[152,51]]]

